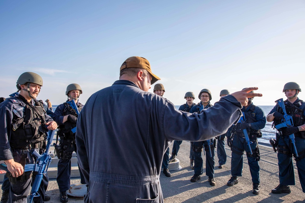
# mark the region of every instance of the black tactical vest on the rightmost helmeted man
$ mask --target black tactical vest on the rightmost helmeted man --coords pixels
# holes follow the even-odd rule
[[[305,123],[303,110],[299,108],[303,103],[304,102],[302,100],[299,100],[299,102],[296,104],[289,104],[287,100],[284,101],[286,113],[292,116],[293,126],[300,126]],[[280,106],[278,106],[276,111],[284,115],[283,109]],[[273,125],[276,126],[281,123],[282,122],[280,120],[274,120]],[[278,129],[278,131],[280,131],[282,135],[289,135],[286,133],[286,128]],[[296,132],[294,135],[297,137],[305,138],[305,131]]]

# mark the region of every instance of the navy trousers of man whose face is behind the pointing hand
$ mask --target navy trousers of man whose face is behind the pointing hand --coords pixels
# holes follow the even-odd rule
[[[253,143],[250,144],[251,150],[253,151],[257,147],[257,141],[252,141]],[[242,149],[238,150],[236,149]],[[233,138],[233,146],[236,151],[243,153],[244,151],[250,152],[249,146],[247,145],[246,139],[239,137],[237,135],[234,135]],[[232,176],[242,176],[242,163],[243,163],[243,157],[240,154],[237,154],[232,151],[232,159],[231,159],[231,175]],[[248,164],[250,168],[250,173],[252,177],[253,183],[260,183],[260,164],[258,163],[257,157],[248,157]]]

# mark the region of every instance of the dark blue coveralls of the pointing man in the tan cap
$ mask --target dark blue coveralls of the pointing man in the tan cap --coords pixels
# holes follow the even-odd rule
[[[122,103],[128,108],[113,108]],[[162,203],[161,163],[171,141],[224,134],[241,107],[228,95],[190,114],[127,80],[94,93],[78,116],[76,131],[77,159],[89,191],[84,202]],[[120,161],[109,164],[113,160]]]

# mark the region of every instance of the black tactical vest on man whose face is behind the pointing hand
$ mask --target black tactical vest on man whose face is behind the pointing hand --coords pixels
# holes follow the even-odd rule
[[[256,115],[255,115],[255,113],[254,113],[254,110],[255,110],[255,105],[252,105],[251,107],[250,107],[250,109],[247,111],[247,112],[244,112],[244,114],[245,114],[245,119],[246,119],[246,123],[255,123],[255,122],[257,122],[257,120],[256,120]],[[239,136],[241,136],[241,137],[243,137],[244,136],[244,134],[243,134],[243,132],[242,132],[242,130],[240,129],[240,123],[237,123],[236,125],[234,125],[233,126],[233,128],[232,128],[232,130],[231,130],[231,132],[233,133],[233,132],[236,132],[236,134],[237,135],[239,135]],[[252,129],[252,128],[250,128],[250,130],[248,130],[248,134],[249,134],[249,136],[256,136],[256,137],[258,137],[258,138],[260,138],[261,137],[261,133],[260,133],[260,130],[254,130],[254,129]],[[251,139],[250,137],[249,137],[249,139]],[[256,139],[256,138],[254,138],[254,139]]]

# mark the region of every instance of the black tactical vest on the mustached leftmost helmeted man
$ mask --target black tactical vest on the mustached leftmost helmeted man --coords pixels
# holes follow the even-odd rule
[[[12,132],[9,144],[11,148],[39,148],[42,141],[47,138],[45,127],[45,109],[42,100],[34,100],[34,106],[27,102],[23,96],[18,95],[16,99],[26,104],[23,117],[15,114],[12,121]],[[16,111],[16,110],[15,110]]]

